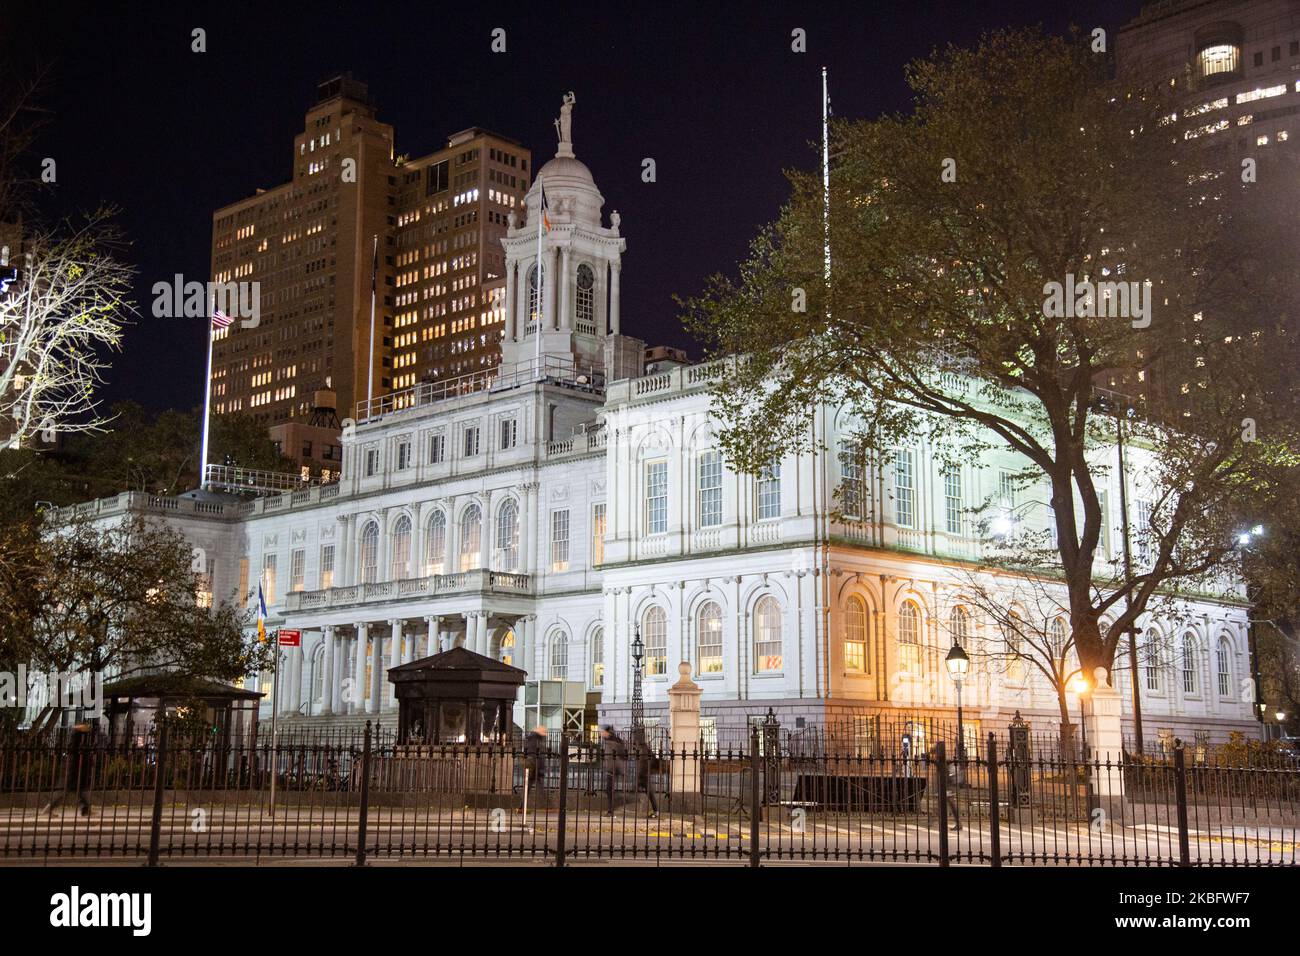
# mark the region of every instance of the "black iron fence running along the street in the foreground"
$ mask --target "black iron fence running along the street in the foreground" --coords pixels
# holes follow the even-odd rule
[[[170,737],[170,739],[169,739]],[[774,744],[774,737],[779,743]],[[937,739],[936,739],[937,737]],[[793,740],[793,743],[792,743]],[[1295,865],[1300,770],[794,735],[612,752],[292,734],[0,739],[0,858]]]

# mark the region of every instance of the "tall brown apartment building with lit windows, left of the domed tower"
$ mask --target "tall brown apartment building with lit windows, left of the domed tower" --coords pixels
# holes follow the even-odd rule
[[[256,325],[213,336],[213,414],[255,415],[286,455],[337,471],[337,442],[302,438],[317,393],[334,393],[347,418],[370,393],[495,364],[499,239],[530,159],[469,129],[408,160],[364,83],[321,83],[294,138],[292,178],[213,213],[213,281],[256,282],[260,304]]]

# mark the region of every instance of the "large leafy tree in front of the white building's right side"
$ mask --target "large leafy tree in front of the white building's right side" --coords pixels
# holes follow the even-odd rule
[[[845,403],[876,467],[918,438],[941,466],[1011,453],[1049,488],[1056,533],[987,561],[1054,575],[1080,665],[1109,670],[1157,594],[1222,584],[1230,503],[1290,455],[1294,191],[1239,215],[1235,178],[1166,129],[1166,87],[1118,86],[1075,39],[994,33],[907,79],[914,112],[838,124],[829,194],[793,173],[738,278],[685,303],[715,354],[744,355],[714,380],[724,449],[755,471]],[[1054,308],[1070,277],[1138,282],[1135,315],[1113,313],[1118,290]],[[1100,388],[1143,393],[1124,432],[1149,557],[1131,576],[1098,555],[1117,428]]]

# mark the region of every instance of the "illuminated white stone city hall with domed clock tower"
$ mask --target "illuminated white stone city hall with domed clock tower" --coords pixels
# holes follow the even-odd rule
[[[1046,496],[1010,490],[1010,455],[944,472],[918,442],[884,467],[848,464],[853,418],[837,407],[815,410],[823,450],[732,471],[710,414],[728,362],[647,367],[645,343],[621,329],[625,239],[573,153],[566,105],[556,155],[502,241],[499,367],[363,402],[343,425],[337,483],[252,499],[125,493],[79,510],[157,514],[182,529],[209,600],[247,604],[261,580],[268,628],[303,635],[274,702],[290,722],[394,723],[387,670],[465,646],[528,671],[520,726],[534,705],[556,730],[625,726],[637,633],[649,719],[667,722],[685,662],[706,737],[741,739],[768,710],[786,730],[854,727],[863,739],[953,719],[954,639],[1004,640],[967,597],[972,581],[994,580],[971,509],[1000,498],[1041,529]],[[1118,475],[1109,470],[1106,502],[1121,501]],[[1136,481],[1128,499],[1140,514]],[[840,515],[844,501],[858,502],[857,518]],[[1106,525],[1100,561],[1118,561],[1113,510]],[[1184,611],[1176,627],[1141,622],[1148,739],[1257,730],[1240,594]],[[991,669],[972,657],[975,671]],[[968,682],[968,734],[1015,711],[1053,731],[1057,696],[1036,670],[997,670]],[[1131,708],[1128,669],[1115,678]],[[250,688],[269,691],[269,675]],[[554,708],[537,704],[549,689]],[[270,700],[261,706],[269,717]]]

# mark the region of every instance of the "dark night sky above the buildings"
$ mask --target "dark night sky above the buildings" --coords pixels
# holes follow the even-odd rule
[[[998,26],[1115,29],[1140,0],[982,3],[0,4],[9,79],[49,68],[51,122],[31,157],[57,161],[43,215],[122,208],[140,317],[112,358],[107,401],[160,410],[203,401],[204,329],[153,319],[151,287],[208,278],[212,212],[290,178],[292,137],[316,83],[369,85],[396,151],[421,156],[485,126],[555,150],[573,90],[573,143],[628,241],[623,329],[684,346],[673,294],[733,272],[786,196],[783,170],[819,161],[820,68],[837,117],[907,107],[902,68]],[[481,7],[481,10],[469,9]],[[182,9],[183,8],[183,9]],[[508,52],[490,52],[494,27]],[[208,51],[190,51],[207,30]],[[790,31],[809,52],[790,52]],[[658,182],[641,182],[654,157]]]

